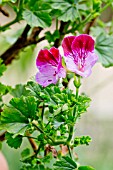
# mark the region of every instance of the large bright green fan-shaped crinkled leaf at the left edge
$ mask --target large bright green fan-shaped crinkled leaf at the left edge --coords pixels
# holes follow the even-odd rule
[[[33,96],[13,98],[10,105],[1,113],[2,123],[28,123],[28,119],[34,119],[36,115],[37,102]]]

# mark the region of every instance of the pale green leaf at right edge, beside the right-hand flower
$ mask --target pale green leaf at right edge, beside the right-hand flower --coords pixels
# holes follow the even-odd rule
[[[104,33],[96,39],[95,52],[104,67],[113,66],[113,37]]]

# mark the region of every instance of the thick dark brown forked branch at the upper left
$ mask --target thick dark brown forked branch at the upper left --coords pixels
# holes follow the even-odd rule
[[[31,32],[31,35],[28,37],[28,32],[30,28],[31,27],[29,25],[26,25],[23,33],[17,39],[17,41],[0,56],[5,65],[10,64],[12,60],[15,59],[16,56],[19,54],[20,50],[22,50],[23,48],[31,44],[36,44],[45,39],[45,37],[42,37],[38,40],[36,39],[36,37],[39,35],[39,33],[42,30],[42,28],[40,27],[34,27]]]

